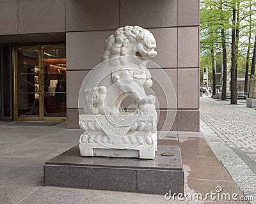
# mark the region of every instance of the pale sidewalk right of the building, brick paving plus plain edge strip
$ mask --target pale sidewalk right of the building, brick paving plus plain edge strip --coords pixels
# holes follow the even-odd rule
[[[200,98],[200,131],[232,179],[256,203],[256,110]]]

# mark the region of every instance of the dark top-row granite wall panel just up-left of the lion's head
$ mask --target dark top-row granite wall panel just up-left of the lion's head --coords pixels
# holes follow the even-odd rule
[[[67,31],[111,30],[119,27],[118,0],[66,0]]]

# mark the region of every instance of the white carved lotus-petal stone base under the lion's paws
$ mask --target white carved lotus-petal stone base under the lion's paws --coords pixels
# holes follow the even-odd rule
[[[84,130],[79,140],[81,156],[154,159],[156,115],[126,115],[123,119],[124,126],[116,128],[120,121],[115,116],[79,115]]]

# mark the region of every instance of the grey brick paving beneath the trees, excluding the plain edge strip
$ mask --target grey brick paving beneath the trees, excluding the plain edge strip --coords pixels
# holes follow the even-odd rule
[[[207,97],[200,98],[200,118],[231,148],[237,148],[256,163],[256,110]]]

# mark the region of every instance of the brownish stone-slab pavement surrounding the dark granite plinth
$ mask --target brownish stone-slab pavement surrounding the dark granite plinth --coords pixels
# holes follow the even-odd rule
[[[56,126],[24,126],[24,122],[0,124],[0,203],[247,203],[246,201],[165,200],[164,195],[96,191],[43,186],[45,161],[77,144],[81,130]],[[21,126],[20,126],[21,124]],[[172,132],[159,145],[179,145],[184,168],[184,193],[237,193],[244,196],[201,133]],[[85,181],[86,182],[86,181]],[[104,182],[104,181],[102,181]],[[220,191],[218,191],[220,192]],[[168,193],[168,192],[166,192]]]

